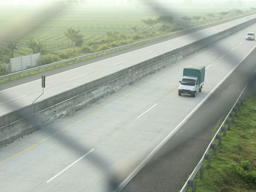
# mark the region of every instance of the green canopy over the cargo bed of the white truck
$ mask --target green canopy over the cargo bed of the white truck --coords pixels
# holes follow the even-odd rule
[[[183,76],[198,77],[199,84],[204,82],[205,66],[188,66],[183,69]]]

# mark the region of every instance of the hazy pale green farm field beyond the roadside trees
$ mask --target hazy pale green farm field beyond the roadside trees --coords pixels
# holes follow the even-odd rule
[[[6,46],[6,40],[19,39],[19,51],[15,51],[15,56],[31,54],[31,50],[26,48],[25,42],[28,38],[38,38],[46,41],[50,52],[68,48],[71,46],[70,40],[64,35],[68,28],[80,30],[86,41],[98,40],[106,36],[107,32],[119,32],[122,34],[132,34],[133,26],[139,31],[146,30],[147,26],[142,19],[156,19],[160,14],[168,10],[174,17],[174,26],[182,27],[184,22],[182,16],[202,16],[212,13],[214,20],[219,20],[218,13],[228,11],[226,8],[159,8],[149,4],[136,5],[58,5],[58,6],[0,6],[0,48]],[[177,11],[178,10],[178,11]],[[250,8],[245,9],[250,10]],[[207,18],[209,20],[209,18]],[[204,21],[205,22],[205,21]],[[212,21],[213,22],[213,21]],[[191,22],[194,26],[196,21]],[[200,20],[202,24],[202,20]],[[156,25],[156,28],[159,25]],[[168,32],[166,32],[168,33]]]

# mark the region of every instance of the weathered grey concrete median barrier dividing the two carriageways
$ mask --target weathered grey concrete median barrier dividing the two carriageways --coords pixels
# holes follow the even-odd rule
[[[0,117],[0,147],[88,106],[256,22],[250,20]]]

